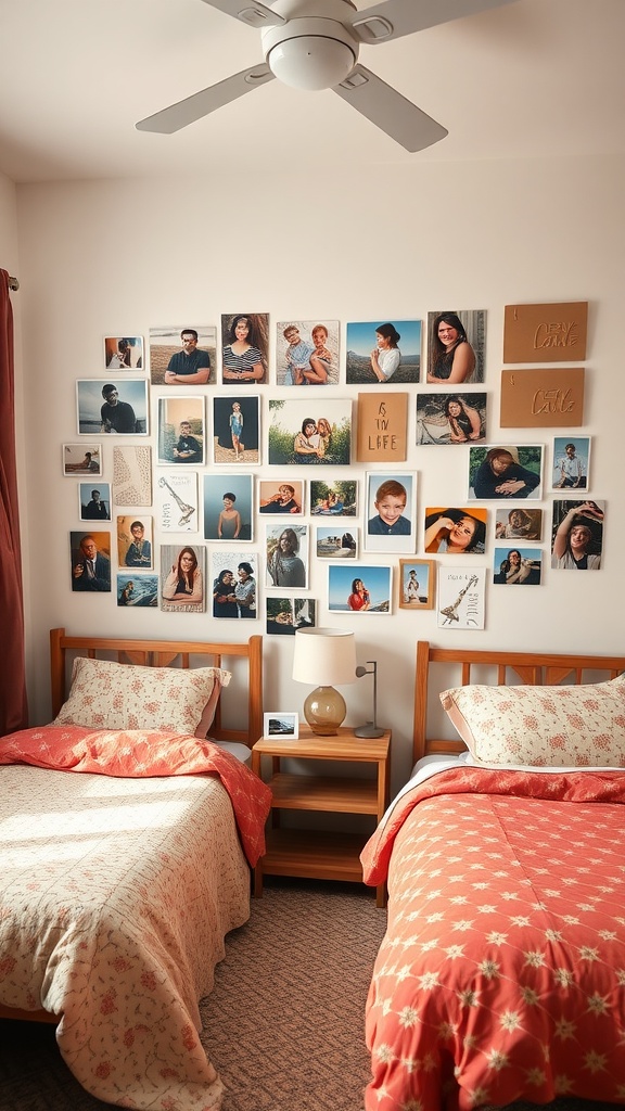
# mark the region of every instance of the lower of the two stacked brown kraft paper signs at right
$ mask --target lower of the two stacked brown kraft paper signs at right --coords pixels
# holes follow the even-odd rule
[[[502,428],[584,423],[584,368],[502,371]]]

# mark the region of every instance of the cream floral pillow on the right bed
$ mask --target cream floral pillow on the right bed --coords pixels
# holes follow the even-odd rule
[[[440,701],[476,760],[625,768],[625,673],[578,687],[456,687]]]

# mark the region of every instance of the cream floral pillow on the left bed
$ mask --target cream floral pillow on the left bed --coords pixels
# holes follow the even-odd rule
[[[71,689],[52,725],[147,729],[206,737],[230,672],[145,668],[78,657]]]

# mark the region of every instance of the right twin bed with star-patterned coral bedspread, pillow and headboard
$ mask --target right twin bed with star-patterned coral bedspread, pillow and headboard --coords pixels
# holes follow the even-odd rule
[[[363,853],[367,1111],[625,1103],[624,669],[417,645],[416,772]]]

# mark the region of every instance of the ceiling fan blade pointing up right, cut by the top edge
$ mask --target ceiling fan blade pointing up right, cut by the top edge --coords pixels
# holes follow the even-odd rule
[[[516,0],[384,0],[373,8],[349,14],[349,22],[361,42],[375,46],[400,39],[404,34],[437,27],[453,19],[473,16],[488,8],[502,8]]]

